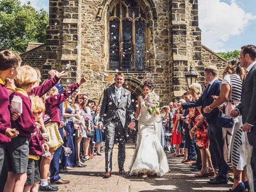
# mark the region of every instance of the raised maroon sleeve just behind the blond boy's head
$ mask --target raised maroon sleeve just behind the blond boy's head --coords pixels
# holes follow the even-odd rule
[[[60,80],[60,78],[58,78],[57,76],[54,76],[53,78],[51,78],[50,80],[47,80],[46,82],[44,82],[42,85],[37,86],[35,88],[32,89],[32,91],[30,91],[28,93],[28,95],[34,95],[34,96],[39,96],[42,97],[44,96],[44,94],[46,94],[52,87],[54,87],[58,81]]]

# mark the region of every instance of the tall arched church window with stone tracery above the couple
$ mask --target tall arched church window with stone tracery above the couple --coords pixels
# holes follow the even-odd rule
[[[109,18],[109,70],[145,70],[146,14],[135,0],[116,0]]]

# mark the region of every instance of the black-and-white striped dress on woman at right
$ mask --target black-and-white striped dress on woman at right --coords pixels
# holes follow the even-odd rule
[[[226,75],[223,78],[222,84],[230,85],[230,93],[228,96],[229,102],[232,104],[232,109],[235,108],[241,99],[242,82],[238,74]],[[230,116],[227,102],[225,102],[225,116]],[[242,132],[242,116],[233,118],[232,128],[222,128],[224,139],[224,158],[230,167],[234,166],[238,170],[243,170],[246,162],[240,156],[239,148],[245,141],[245,132]]]

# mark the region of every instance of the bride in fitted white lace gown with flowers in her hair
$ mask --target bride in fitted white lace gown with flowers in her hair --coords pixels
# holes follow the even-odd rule
[[[135,118],[140,115],[138,120],[139,138],[130,164],[131,176],[143,174],[142,177],[146,178],[148,175],[163,176],[169,172],[168,160],[158,139],[158,129],[162,123],[159,108],[152,116],[144,106],[144,97],[152,91],[154,91],[153,83],[146,81],[143,85],[143,96],[138,98]]]

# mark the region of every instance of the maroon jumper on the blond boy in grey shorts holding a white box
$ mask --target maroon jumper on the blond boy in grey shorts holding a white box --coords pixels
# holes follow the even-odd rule
[[[18,136],[31,137],[31,133],[36,132],[35,116],[31,111],[31,100],[28,94],[20,88],[16,88],[15,92],[10,95],[10,104],[13,96],[19,96],[22,99],[22,114],[16,121],[12,121],[12,128],[16,128],[20,133]]]

